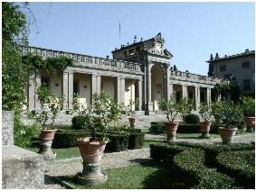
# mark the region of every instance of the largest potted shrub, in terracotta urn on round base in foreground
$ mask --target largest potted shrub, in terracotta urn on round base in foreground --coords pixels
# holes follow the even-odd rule
[[[118,126],[122,107],[104,92],[92,95],[92,105],[83,111],[84,128],[91,137],[78,140],[78,147],[83,159],[83,170],[77,174],[81,184],[100,184],[107,180],[107,175],[100,171],[100,160],[109,142],[107,131]],[[100,137],[98,137],[100,133]]]

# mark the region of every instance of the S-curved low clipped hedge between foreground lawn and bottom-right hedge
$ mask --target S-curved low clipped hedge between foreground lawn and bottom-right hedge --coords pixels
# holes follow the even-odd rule
[[[184,150],[175,155],[174,164],[194,179],[194,188],[233,188],[231,177],[204,167],[204,150]]]

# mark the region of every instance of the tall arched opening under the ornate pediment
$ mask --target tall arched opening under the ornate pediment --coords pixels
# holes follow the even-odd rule
[[[153,102],[154,111],[158,110],[157,102],[160,101],[164,95],[163,79],[163,69],[155,64],[151,68],[151,101]]]

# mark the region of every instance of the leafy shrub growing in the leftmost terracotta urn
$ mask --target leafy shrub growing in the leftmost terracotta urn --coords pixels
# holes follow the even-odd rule
[[[38,99],[43,106],[43,109],[40,111],[33,110],[30,116],[40,123],[43,129],[52,129],[52,125],[57,118],[59,112],[62,110],[64,96],[50,96],[50,90],[47,86],[40,86],[37,89]],[[49,123],[49,122],[51,123]],[[50,126],[46,126],[46,123],[49,123]]]

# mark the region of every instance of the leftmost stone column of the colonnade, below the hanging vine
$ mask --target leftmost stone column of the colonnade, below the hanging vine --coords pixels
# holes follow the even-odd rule
[[[28,107],[29,109],[34,109],[34,97],[35,97],[35,72],[33,71],[30,74],[28,81]]]

